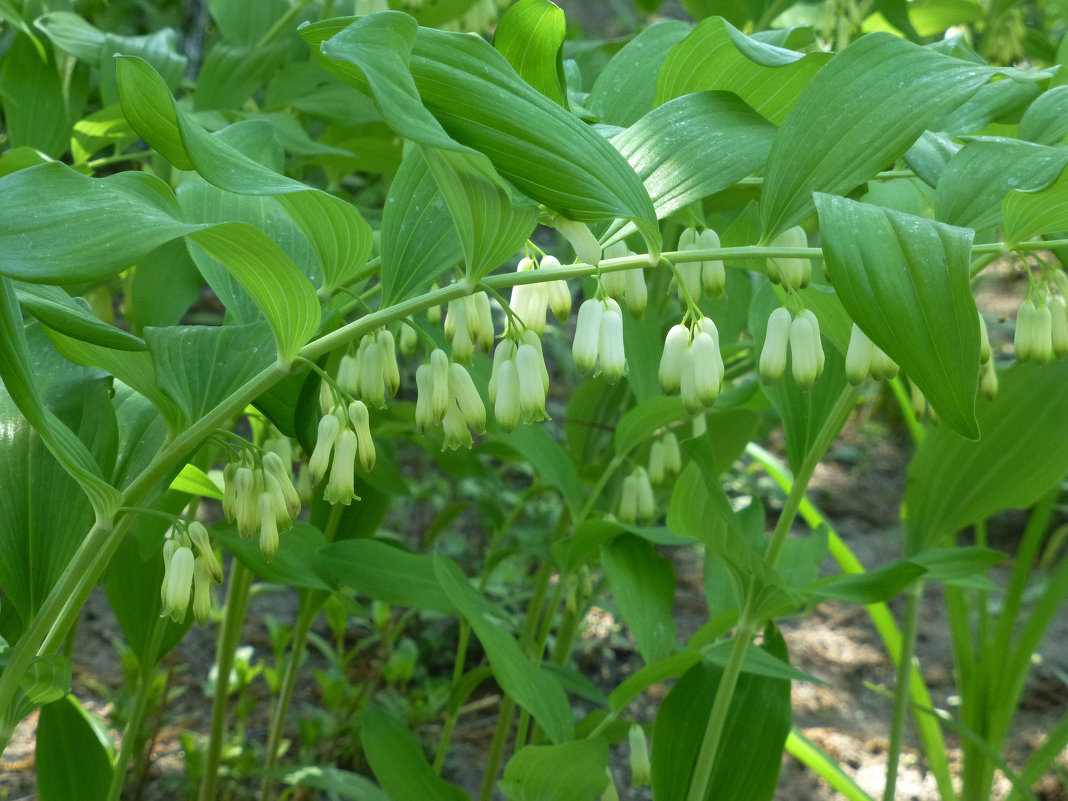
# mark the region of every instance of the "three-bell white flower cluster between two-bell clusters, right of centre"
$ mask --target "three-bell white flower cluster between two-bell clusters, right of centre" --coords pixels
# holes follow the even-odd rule
[[[679,324],[668,331],[659,378],[664,392],[681,394],[691,414],[716,405],[723,390],[723,357],[720,332],[711,319],[702,317],[692,329]]]

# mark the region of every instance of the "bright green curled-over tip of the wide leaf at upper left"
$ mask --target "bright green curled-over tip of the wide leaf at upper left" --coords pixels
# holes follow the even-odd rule
[[[321,320],[319,300],[308,277],[273,239],[245,222],[202,229],[190,238],[226,265],[252,296],[274,334],[279,363],[292,364]]]

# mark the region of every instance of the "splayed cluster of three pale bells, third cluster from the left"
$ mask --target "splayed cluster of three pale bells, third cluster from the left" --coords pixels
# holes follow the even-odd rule
[[[362,400],[354,400],[347,409],[340,404],[333,406],[319,420],[318,436],[308,460],[308,471],[314,485],[323,481],[329,468],[330,477],[323,492],[327,503],[343,503],[347,506],[354,498],[359,500],[356,494],[357,457],[365,471],[375,467],[371,415]]]

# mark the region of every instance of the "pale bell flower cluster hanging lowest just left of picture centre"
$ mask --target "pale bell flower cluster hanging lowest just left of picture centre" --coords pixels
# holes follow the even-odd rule
[[[450,362],[444,350],[435,349],[429,363],[419,366],[415,389],[415,425],[423,434],[440,425],[442,450],[471,447],[470,428],[486,433],[486,406],[471,375],[462,364]]]

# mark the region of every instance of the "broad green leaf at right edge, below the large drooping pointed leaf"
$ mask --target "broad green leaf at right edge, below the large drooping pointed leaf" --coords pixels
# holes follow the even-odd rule
[[[1026,508],[1068,472],[1068,428],[1050,425],[1068,403],[1068,362],[1017,365],[998,397],[979,402],[980,440],[939,427],[916,449],[906,478],[907,553],[1005,508]]]

